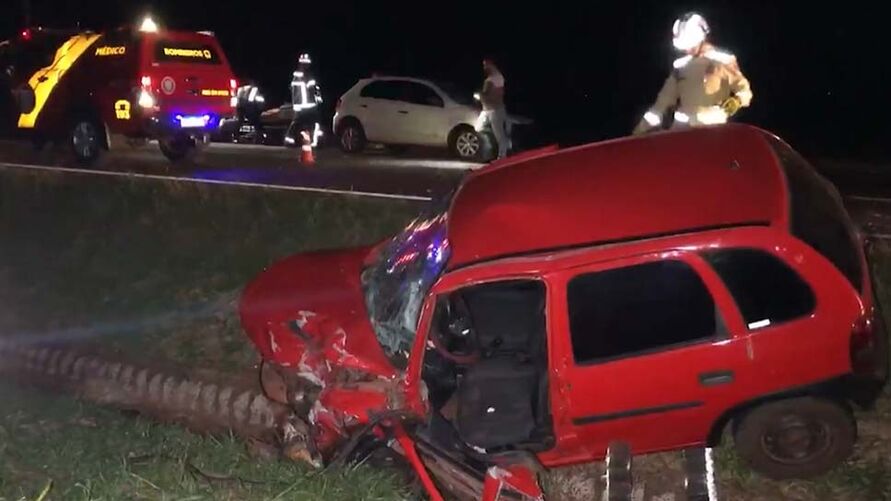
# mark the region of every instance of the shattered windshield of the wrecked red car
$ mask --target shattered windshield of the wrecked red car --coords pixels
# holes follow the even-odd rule
[[[424,297],[448,262],[448,200],[434,204],[409,223],[362,272],[365,304],[375,335],[400,368],[408,360]]]

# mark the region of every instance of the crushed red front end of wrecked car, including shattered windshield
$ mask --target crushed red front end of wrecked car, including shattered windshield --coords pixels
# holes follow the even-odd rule
[[[371,443],[398,452],[433,499],[443,482],[467,499],[537,499],[534,475],[509,458],[479,469],[442,450],[426,425],[423,384],[406,376],[414,326],[448,259],[447,202],[375,247],[301,254],[264,270],[243,293],[242,325],[263,357],[265,393],[294,409],[281,430],[286,456],[337,464]]]

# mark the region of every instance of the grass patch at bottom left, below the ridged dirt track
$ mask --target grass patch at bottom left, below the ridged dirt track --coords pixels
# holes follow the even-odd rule
[[[251,457],[232,437],[125,417],[70,398],[0,386],[0,500],[389,500],[395,478],[359,467],[308,472]]]

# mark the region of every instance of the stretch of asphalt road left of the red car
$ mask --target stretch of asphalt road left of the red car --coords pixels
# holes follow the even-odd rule
[[[335,149],[317,151],[316,164],[307,167],[300,164],[299,154],[300,150],[282,147],[215,143],[204,149],[193,162],[172,164],[161,155],[156,144],[149,143],[140,148],[125,147],[111,152],[90,170],[187,178],[199,182],[429,198],[449,190],[469,169],[479,167],[479,164],[455,161],[437,152],[394,156],[381,150],[346,155]],[[37,152],[29,144],[16,141],[0,141],[0,163],[81,168],[58,148]]]

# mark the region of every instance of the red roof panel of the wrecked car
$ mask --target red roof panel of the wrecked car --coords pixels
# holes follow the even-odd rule
[[[727,226],[786,225],[785,178],[751,126],[527,154],[470,174],[448,215],[449,268]]]

